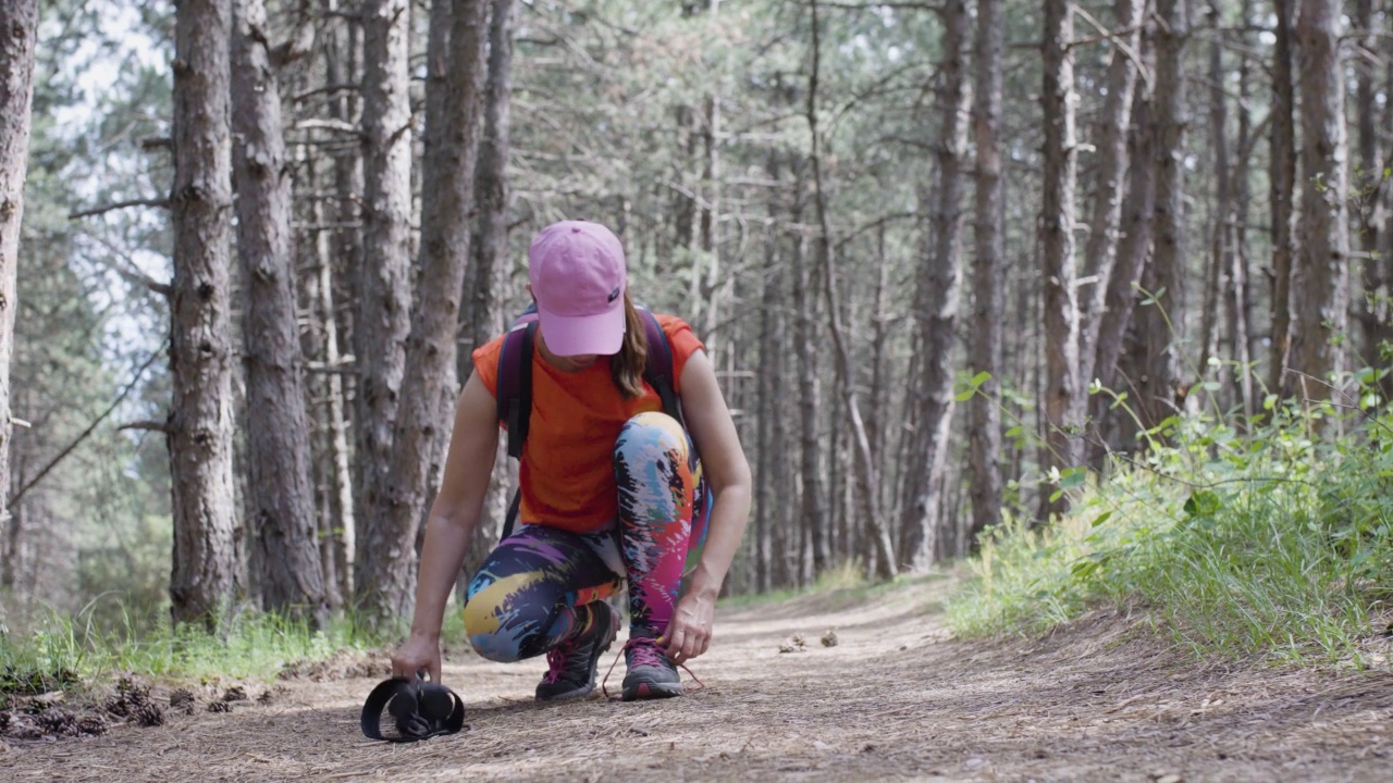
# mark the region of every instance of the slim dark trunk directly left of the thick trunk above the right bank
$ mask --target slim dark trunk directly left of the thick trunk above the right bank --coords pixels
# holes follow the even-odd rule
[[[1277,13],[1276,45],[1272,53],[1272,358],[1268,365],[1268,389],[1290,394],[1287,373],[1291,361],[1291,259],[1295,240],[1291,234],[1293,199],[1297,183],[1295,82],[1291,72],[1291,21],[1295,0],[1273,0]]]

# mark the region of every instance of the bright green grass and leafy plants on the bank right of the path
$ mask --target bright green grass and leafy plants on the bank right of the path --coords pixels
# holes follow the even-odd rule
[[[1333,417],[1279,408],[1245,436],[1165,422],[1170,446],[1091,476],[1063,520],[992,531],[950,626],[1038,634],[1117,606],[1199,655],[1362,666],[1393,588],[1393,429],[1322,436]]]

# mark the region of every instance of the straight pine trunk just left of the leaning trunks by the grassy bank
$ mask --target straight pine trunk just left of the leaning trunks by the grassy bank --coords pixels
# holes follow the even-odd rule
[[[1041,254],[1045,279],[1045,417],[1046,467],[1078,464],[1082,394],[1078,380],[1078,305],[1074,290],[1074,36],[1068,0],[1045,3],[1045,184],[1041,212]],[[1064,510],[1063,497],[1049,500],[1042,488],[1041,517]]]

